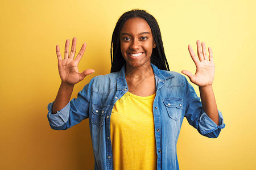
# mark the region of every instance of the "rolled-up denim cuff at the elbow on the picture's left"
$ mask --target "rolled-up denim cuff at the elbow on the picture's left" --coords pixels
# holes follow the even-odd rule
[[[49,125],[51,126],[52,129],[55,129],[57,127],[63,126],[69,118],[69,109],[70,109],[70,102],[60,111],[57,111],[56,114],[52,114],[52,106],[53,103],[48,104],[48,120],[49,120]]]

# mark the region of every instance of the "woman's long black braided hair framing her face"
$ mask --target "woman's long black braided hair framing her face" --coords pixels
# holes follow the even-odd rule
[[[156,44],[156,48],[153,48],[152,50],[150,61],[152,64],[157,66],[158,69],[170,71],[169,65],[166,59],[166,54],[164,54],[163,41],[162,41],[162,36],[161,36],[158,22],[156,22],[156,19],[154,18],[154,16],[148,14],[146,11],[136,9],[136,10],[125,12],[118,19],[117,24],[115,25],[113,35],[112,35],[111,48],[110,48],[111,65],[112,65],[110,73],[113,73],[115,71],[120,71],[122,66],[126,63],[121,53],[120,32],[123,27],[123,24],[125,24],[126,20],[130,18],[142,18],[146,20],[147,24],[151,28],[152,35],[154,37],[155,44]]]

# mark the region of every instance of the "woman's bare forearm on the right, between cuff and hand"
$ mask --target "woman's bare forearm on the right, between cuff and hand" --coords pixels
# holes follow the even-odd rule
[[[218,125],[218,109],[212,85],[199,87],[199,91],[205,113]]]

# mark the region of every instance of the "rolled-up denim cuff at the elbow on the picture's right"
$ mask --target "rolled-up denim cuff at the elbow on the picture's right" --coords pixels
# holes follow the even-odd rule
[[[210,119],[210,117],[203,111],[199,118],[199,132],[200,134],[209,137],[209,138],[217,138],[220,134],[221,129],[225,128],[225,124],[223,122],[223,116],[220,111],[218,111],[219,117],[219,125]]]

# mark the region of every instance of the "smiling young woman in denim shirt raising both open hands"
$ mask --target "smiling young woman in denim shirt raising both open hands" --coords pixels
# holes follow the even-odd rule
[[[77,69],[85,47],[75,58],[76,38],[70,54],[67,40],[63,59],[56,46],[61,85],[48,120],[52,129],[64,130],[89,118],[94,169],[179,169],[176,143],[184,117],[210,138],[225,127],[212,89],[213,54],[208,48],[207,56],[204,42],[197,41],[198,57],[188,46],[196,74],[182,71],[199,86],[201,101],[183,75],[168,71],[158,23],[146,11],[119,18],[111,73],[94,77],[69,101],[74,85],[94,73]]]

